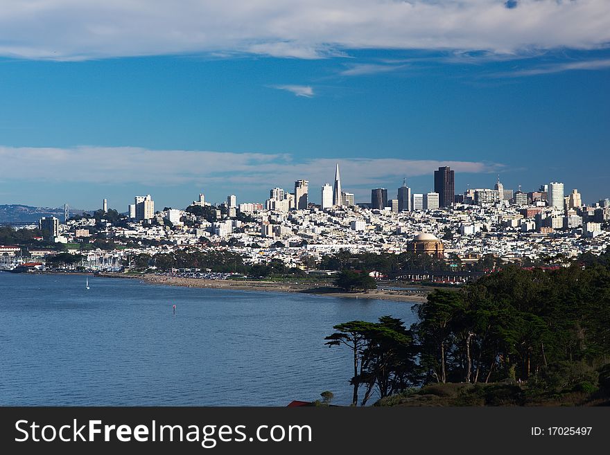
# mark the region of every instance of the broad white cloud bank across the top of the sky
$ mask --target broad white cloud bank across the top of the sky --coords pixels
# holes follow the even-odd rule
[[[317,58],[352,48],[519,53],[610,42],[608,0],[3,1],[0,55],[82,60],[245,52]]]

